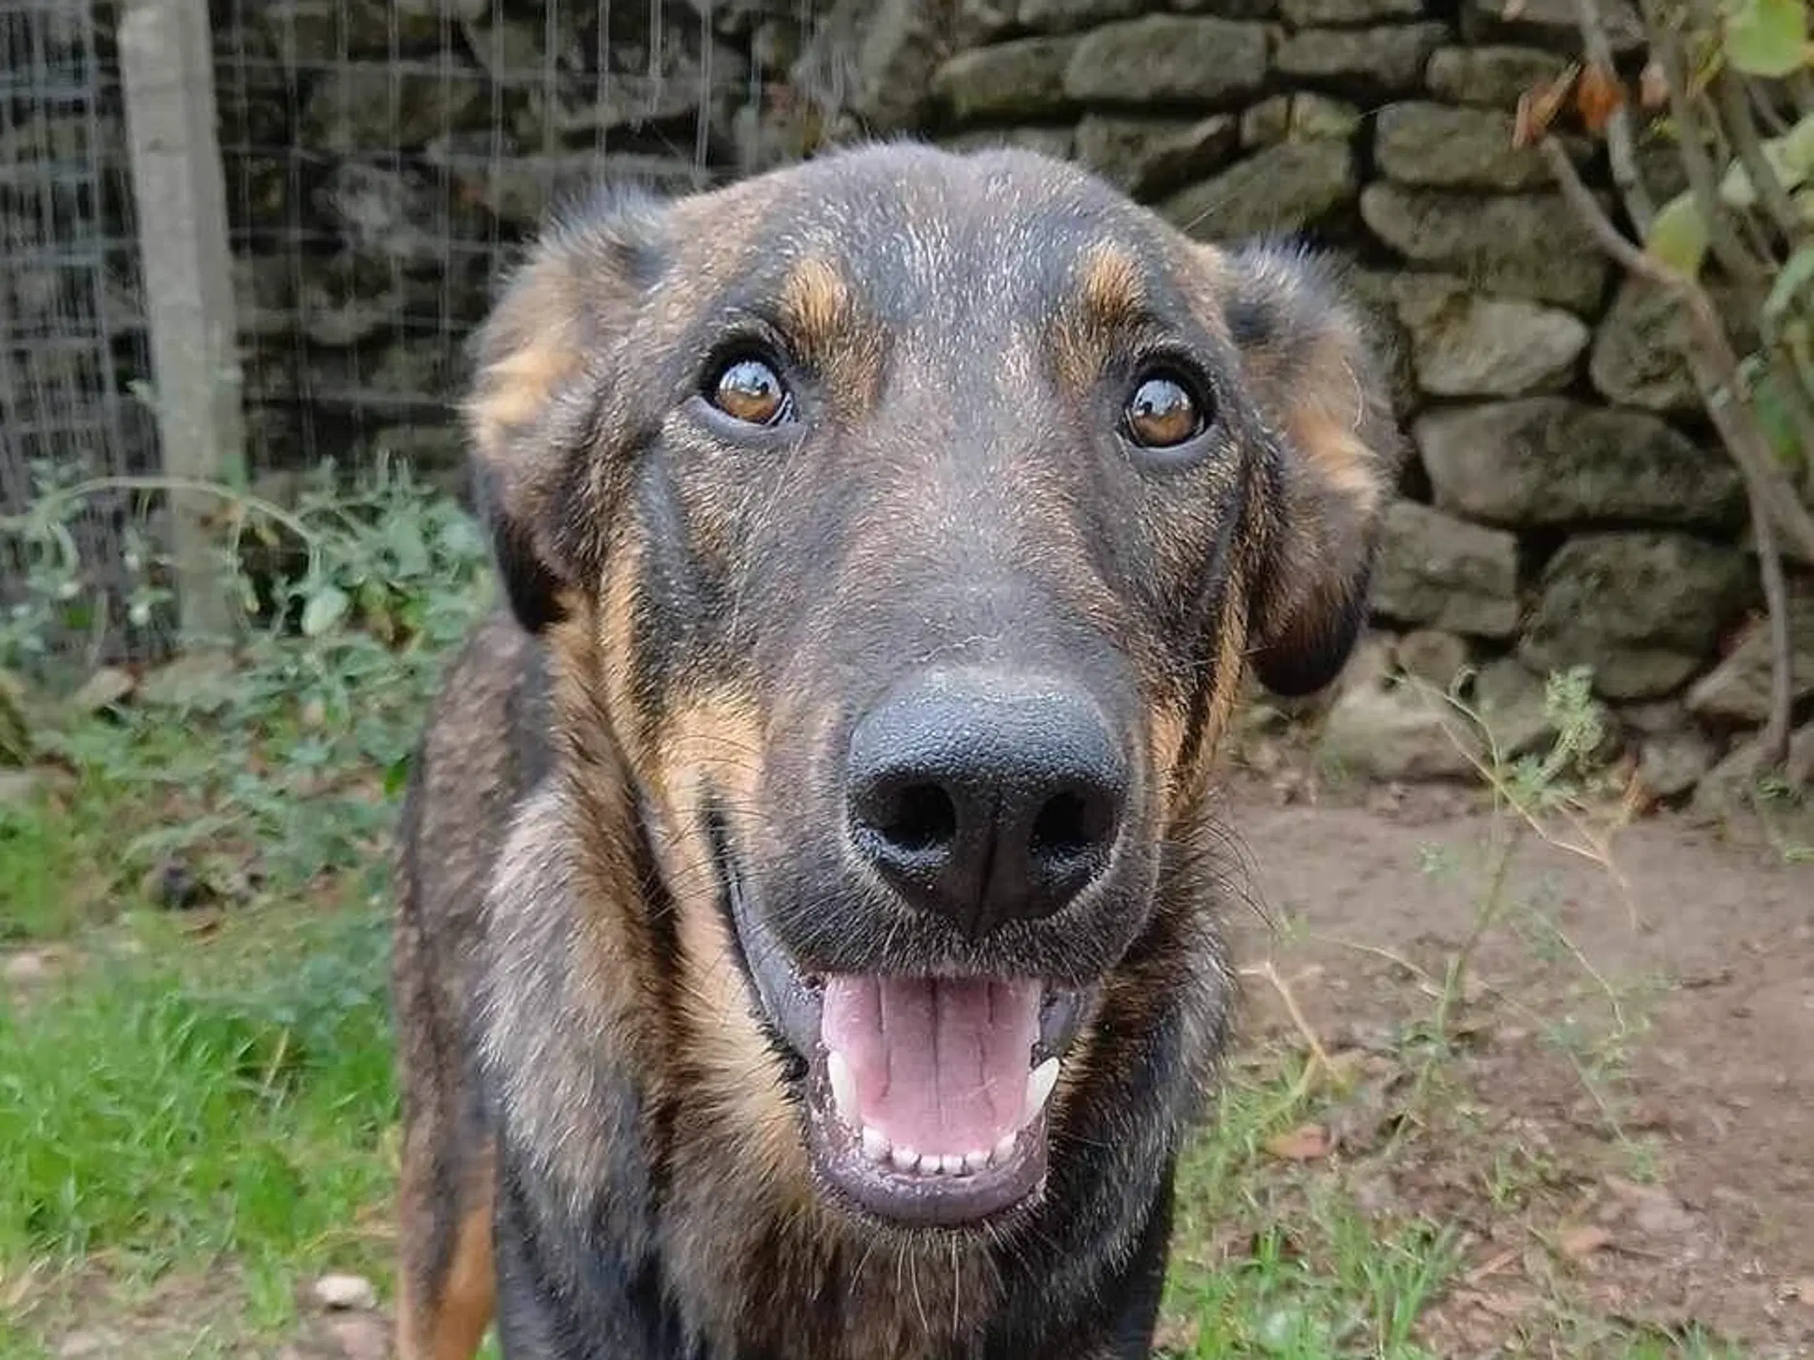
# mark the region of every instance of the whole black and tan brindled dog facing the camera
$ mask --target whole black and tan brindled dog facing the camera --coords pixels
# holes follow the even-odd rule
[[[1315,259],[1025,152],[566,214],[405,811],[403,1355],[1146,1355],[1212,753],[1353,644],[1382,393]]]

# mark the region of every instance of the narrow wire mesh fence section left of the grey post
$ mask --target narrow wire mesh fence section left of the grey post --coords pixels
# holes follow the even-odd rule
[[[56,488],[156,470],[120,118],[105,13],[0,4],[0,524]],[[141,568],[158,529],[114,491],[0,535],[0,655],[154,646]],[[45,604],[62,606],[51,629]]]

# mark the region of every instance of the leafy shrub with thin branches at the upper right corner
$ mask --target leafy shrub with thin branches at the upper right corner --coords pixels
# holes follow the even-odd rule
[[[1649,62],[1636,98],[1616,73],[1598,0],[1576,0],[1584,62],[1524,96],[1517,140],[1542,147],[1607,254],[1683,308],[1689,372],[1751,504],[1774,667],[1760,749],[1780,767],[1792,704],[1780,540],[1814,559],[1814,513],[1801,490],[1814,491],[1809,9],[1805,0],[1640,0],[1640,11]],[[1555,138],[1553,127],[1571,114],[1605,138],[1629,232]],[[1638,172],[1643,138],[1673,145],[1687,180],[1662,205]],[[1714,305],[1711,281],[1734,308]]]

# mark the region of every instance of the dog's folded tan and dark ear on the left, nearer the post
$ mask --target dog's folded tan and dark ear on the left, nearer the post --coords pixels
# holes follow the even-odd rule
[[[613,196],[562,214],[473,339],[463,403],[473,500],[510,609],[532,633],[602,571],[615,368],[660,272],[662,207]]]

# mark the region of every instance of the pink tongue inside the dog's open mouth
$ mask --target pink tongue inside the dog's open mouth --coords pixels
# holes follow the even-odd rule
[[[827,977],[822,1035],[894,1148],[989,1151],[1021,1124],[1039,997],[1036,981]]]

